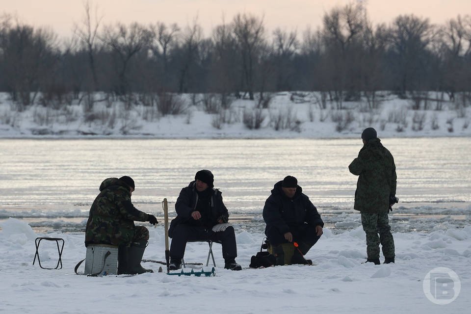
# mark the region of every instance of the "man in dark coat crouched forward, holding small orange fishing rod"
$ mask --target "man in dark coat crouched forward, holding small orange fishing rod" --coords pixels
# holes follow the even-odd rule
[[[275,184],[263,207],[265,235],[277,265],[284,265],[286,243],[293,243],[290,264],[310,263],[304,255],[322,235],[324,222],[313,203],[298,185],[296,178],[287,176]],[[297,247],[296,247],[297,245]],[[288,252],[288,250],[286,250]]]

